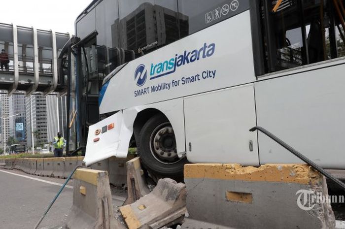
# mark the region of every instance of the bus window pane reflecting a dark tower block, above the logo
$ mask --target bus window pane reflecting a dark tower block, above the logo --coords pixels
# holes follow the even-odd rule
[[[179,39],[177,0],[119,0],[119,47],[138,58]]]

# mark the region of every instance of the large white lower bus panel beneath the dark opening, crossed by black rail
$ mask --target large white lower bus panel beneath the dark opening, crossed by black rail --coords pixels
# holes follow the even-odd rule
[[[345,169],[345,65],[325,66],[256,82],[257,121],[316,164]],[[302,163],[262,133],[259,152],[261,164]]]

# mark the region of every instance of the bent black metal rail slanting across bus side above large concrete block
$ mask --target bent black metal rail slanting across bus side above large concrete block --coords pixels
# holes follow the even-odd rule
[[[345,184],[343,182],[341,182],[339,179],[337,179],[336,177],[334,177],[332,174],[330,174],[329,172],[327,172],[326,170],[324,170],[323,168],[321,168],[319,165],[315,164],[314,162],[312,162],[310,159],[308,159],[306,156],[304,156],[303,154],[301,154],[300,152],[298,152],[297,150],[295,150],[294,148],[292,148],[291,146],[289,146],[288,144],[286,144],[285,142],[283,142],[281,139],[279,139],[278,137],[276,137],[273,133],[271,133],[270,131],[267,131],[265,128],[262,127],[253,127],[251,128],[249,131],[253,132],[253,131],[261,131],[262,133],[266,134],[268,137],[270,137],[272,140],[274,140],[276,143],[278,143],[279,145],[281,145],[283,148],[287,149],[288,151],[290,151],[293,155],[295,155],[296,157],[298,157],[299,159],[301,159],[303,162],[311,165],[311,167],[313,167],[316,171],[318,171],[319,173],[321,173],[322,175],[324,175],[325,177],[327,177],[328,179],[332,180],[333,182],[335,182],[336,184],[338,184],[344,191],[345,191]]]

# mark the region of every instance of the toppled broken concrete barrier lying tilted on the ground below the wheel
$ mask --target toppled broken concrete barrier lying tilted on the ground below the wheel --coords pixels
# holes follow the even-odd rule
[[[120,212],[129,229],[159,229],[182,223],[187,212],[186,186],[170,178],[160,179],[150,194],[120,207]]]

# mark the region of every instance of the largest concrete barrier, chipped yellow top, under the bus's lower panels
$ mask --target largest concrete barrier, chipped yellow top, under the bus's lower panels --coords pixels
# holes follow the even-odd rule
[[[186,164],[187,209],[182,229],[334,229],[324,177],[306,164]],[[308,201],[307,201],[308,199]]]

